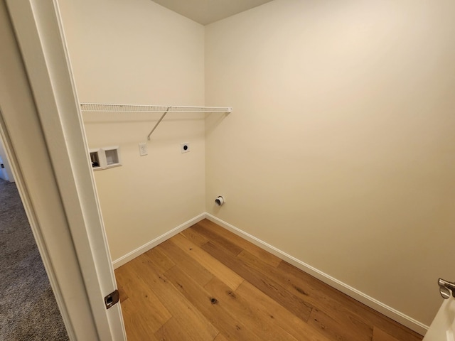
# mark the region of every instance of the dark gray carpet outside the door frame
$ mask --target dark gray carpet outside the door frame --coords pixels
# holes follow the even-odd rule
[[[16,185],[1,179],[0,340],[68,340]]]

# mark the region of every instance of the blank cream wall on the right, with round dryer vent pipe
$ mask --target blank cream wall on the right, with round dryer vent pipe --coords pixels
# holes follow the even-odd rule
[[[455,278],[454,12],[276,0],[206,26],[205,103],[234,108],[206,121],[207,212],[429,324]]]

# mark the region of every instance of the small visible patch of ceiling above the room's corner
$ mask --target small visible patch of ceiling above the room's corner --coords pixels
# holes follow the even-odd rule
[[[156,4],[207,25],[272,0],[153,0]]]

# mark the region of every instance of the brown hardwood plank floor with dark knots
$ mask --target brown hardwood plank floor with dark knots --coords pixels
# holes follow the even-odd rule
[[[115,275],[129,341],[422,340],[208,220]]]

